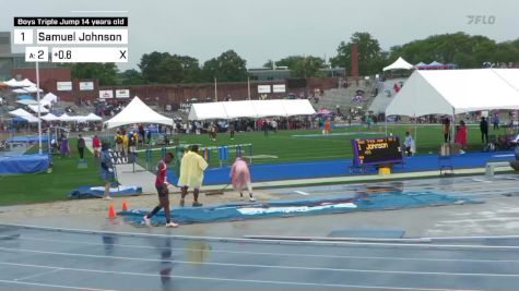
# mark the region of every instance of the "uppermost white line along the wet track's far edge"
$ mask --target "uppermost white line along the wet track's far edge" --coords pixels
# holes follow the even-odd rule
[[[49,228],[49,227],[35,227],[24,225],[2,225],[0,227],[16,227],[27,230],[46,230],[46,231],[59,231],[59,232],[72,232],[81,234],[115,234],[121,237],[133,238],[165,238],[165,239],[178,239],[178,240],[205,240],[226,243],[266,243],[273,245],[331,245],[331,246],[388,246],[388,247],[410,247],[410,248],[452,248],[452,250],[519,250],[518,246],[510,245],[463,245],[463,244],[415,244],[415,243],[381,243],[381,242],[327,242],[327,241],[276,241],[276,240],[256,240],[256,239],[239,239],[239,238],[217,238],[217,237],[196,237],[196,235],[170,235],[158,233],[142,233],[142,232],[117,232],[117,231],[97,231],[97,230],[84,230],[84,229],[67,229],[67,228]]]

